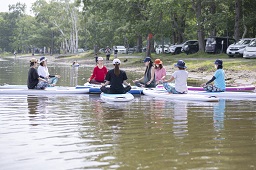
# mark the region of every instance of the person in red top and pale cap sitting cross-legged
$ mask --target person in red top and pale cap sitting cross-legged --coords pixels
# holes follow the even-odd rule
[[[103,58],[98,57],[97,65],[94,67],[92,75],[87,79],[87,81],[90,84],[104,83],[107,72],[108,69],[103,65]]]

